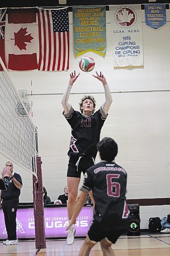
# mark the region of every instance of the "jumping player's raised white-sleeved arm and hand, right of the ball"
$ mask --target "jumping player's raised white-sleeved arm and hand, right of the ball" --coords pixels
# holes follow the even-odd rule
[[[104,90],[105,90],[105,102],[102,104],[102,109],[103,109],[105,115],[107,115],[107,113],[110,109],[111,103],[112,103],[112,95],[111,95],[109,86],[108,86],[106,78],[104,77],[102,72],[100,72],[100,74],[98,72],[96,72],[96,76],[94,76],[94,77],[103,83]]]

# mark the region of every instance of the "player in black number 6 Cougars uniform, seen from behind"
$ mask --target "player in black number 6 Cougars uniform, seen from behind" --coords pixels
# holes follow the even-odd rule
[[[112,138],[105,137],[98,142],[97,147],[102,161],[87,169],[74,214],[67,227],[69,230],[76,223],[86,196],[92,190],[95,212],[79,256],[88,256],[91,248],[98,242],[103,255],[114,256],[111,246],[126,232],[130,220],[126,203],[127,173],[114,161],[118,151],[117,143]]]

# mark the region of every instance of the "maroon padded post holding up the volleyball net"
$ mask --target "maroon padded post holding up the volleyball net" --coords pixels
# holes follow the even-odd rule
[[[36,248],[46,248],[41,164],[42,164],[41,157],[36,157],[38,180],[33,175],[35,247]]]

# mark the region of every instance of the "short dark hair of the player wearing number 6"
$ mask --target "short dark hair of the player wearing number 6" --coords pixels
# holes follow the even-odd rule
[[[97,148],[102,160],[111,162],[117,156],[117,143],[112,138],[103,138],[101,141],[98,142]]]

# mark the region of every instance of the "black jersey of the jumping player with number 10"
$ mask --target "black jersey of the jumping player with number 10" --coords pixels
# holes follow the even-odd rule
[[[102,126],[107,118],[102,108],[89,117],[80,112],[70,109],[68,114],[63,112],[64,117],[71,126],[71,139],[68,155],[87,153],[94,159],[98,152],[96,144],[100,140]]]

